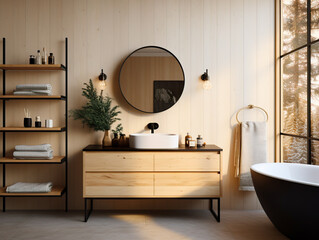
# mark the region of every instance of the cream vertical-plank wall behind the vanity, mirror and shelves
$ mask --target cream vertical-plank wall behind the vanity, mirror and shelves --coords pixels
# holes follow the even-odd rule
[[[230,160],[232,126],[236,111],[248,104],[269,113],[269,156],[274,156],[274,1],[269,0],[0,0],[0,37],[7,39],[7,63],[26,63],[28,56],[46,46],[64,62],[64,37],[69,38],[70,109],[84,103],[81,88],[95,79],[103,68],[108,75],[107,93],[121,106],[125,133],[144,130],[147,123],[158,122],[159,131],[190,132],[203,135],[206,143],[224,149],[222,207],[259,208],[255,193],[237,190]],[[140,113],[125,102],[118,88],[119,66],[136,48],[158,45],[180,60],[186,86],[179,102],[158,114]],[[2,54],[0,56],[2,58]],[[201,74],[209,70],[213,88],[202,88]],[[63,74],[10,73],[8,88],[18,82],[42,82],[44,79],[63,90]],[[1,77],[0,77],[1,78]],[[34,103],[10,103],[8,122],[20,123],[23,107],[42,116],[63,114],[57,103],[34,107]],[[41,108],[40,108],[41,107]],[[13,109],[18,108],[16,111]],[[245,119],[262,119],[258,111],[246,111]],[[2,119],[2,118],[1,118]],[[81,150],[99,143],[101,133],[82,128],[70,120],[69,193],[70,207],[81,209]],[[34,134],[14,134],[8,142],[38,143]],[[43,134],[56,149],[63,145],[58,136]],[[62,149],[63,150],[63,149]],[[62,151],[61,150],[61,151]],[[62,151],[63,152],[63,151]],[[63,182],[63,167],[10,166],[8,183],[45,179]],[[2,179],[2,178],[1,178]],[[61,199],[8,199],[8,207],[63,208]],[[101,201],[100,208],[207,208],[206,200]]]

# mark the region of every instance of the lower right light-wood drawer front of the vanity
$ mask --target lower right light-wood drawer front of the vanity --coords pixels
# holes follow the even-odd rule
[[[218,173],[155,173],[155,196],[217,197],[220,195]]]

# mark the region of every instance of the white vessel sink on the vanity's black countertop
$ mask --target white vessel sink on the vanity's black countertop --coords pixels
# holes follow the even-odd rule
[[[163,133],[130,134],[130,147],[137,149],[178,148],[178,135]]]

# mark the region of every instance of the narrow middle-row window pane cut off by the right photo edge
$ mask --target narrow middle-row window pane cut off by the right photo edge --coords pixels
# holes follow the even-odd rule
[[[311,46],[311,135],[319,138],[319,43]]]

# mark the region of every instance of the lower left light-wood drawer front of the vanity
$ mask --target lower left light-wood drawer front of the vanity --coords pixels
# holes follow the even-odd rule
[[[153,173],[86,173],[84,197],[153,196]]]

